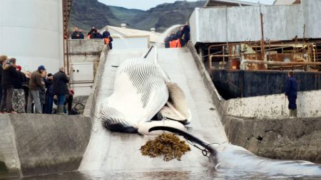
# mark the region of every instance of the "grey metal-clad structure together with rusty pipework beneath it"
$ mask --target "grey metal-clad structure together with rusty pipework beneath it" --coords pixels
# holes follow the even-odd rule
[[[208,0],[190,16],[191,41],[210,70],[320,71],[320,8],[313,0],[282,6]]]

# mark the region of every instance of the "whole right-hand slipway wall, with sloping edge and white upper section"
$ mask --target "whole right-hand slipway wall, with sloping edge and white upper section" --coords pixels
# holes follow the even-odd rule
[[[284,95],[225,101],[213,85],[193,43],[189,43],[188,48],[232,144],[262,157],[321,163],[321,116],[317,110],[320,109],[321,91],[300,92],[297,101],[301,117],[292,119],[283,117],[287,112],[284,110],[282,114],[280,110],[282,105],[284,107]],[[244,115],[248,115],[248,118]],[[318,117],[310,117],[312,115]],[[272,118],[266,119],[267,116]]]

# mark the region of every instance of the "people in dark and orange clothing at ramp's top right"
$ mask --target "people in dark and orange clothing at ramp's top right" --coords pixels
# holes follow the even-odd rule
[[[190,26],[188,22],[184,26],[180,26],[176,33],[172,31],[164,39],[165,48],[181,48],[187,45],[188,41],[190,41]]]

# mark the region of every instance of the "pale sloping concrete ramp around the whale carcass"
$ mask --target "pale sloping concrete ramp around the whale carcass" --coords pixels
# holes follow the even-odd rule
[[[203,157],[200,150],[195,147],[191,147],[192,150],[182,157],[182,161],[163,162],[160,157],[154,159],[143,157],[139,149],[151,137],[109,132],[101,125],[100,103],[113,92],[116,67],[128,58],[141,57],[147,51],[147,49],[109,51],[96,100],[93,132],[79,171],[184,169],[204,167],[208,163],[208,158]],[[148,60],[153,58],[154,51],[148,55]],[[188,49],[158,49],[158,62],[170,79],[178,83],[185,92],[193,117],[188,125],[188,131],[208,142],[227,142],[218,112],[211,102],[209,92],[203,85],[203,80]]]

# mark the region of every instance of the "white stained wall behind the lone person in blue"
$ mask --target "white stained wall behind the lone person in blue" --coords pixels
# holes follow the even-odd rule
[[[282,119],[288,117],[284,94],[231,99],[225,102],[225,115],[245,118]],[[297,93],[298,117],[321,117],[321,90]]]

